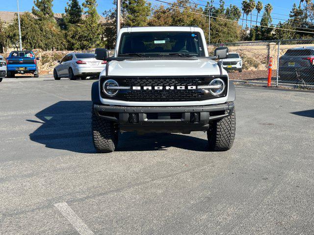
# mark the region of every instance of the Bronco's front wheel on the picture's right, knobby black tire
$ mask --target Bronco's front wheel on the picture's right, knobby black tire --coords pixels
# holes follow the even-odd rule
[[[213,121],[207,131],[209,150],[227,151],[235,140],[235,110],[231,116]]]

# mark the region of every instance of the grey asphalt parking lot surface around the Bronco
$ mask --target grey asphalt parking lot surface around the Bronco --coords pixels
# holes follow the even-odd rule
[[[96,154],[95,80],[0,83],[0,234],[314,234],[314,93],[236,88],[236,138],[122,135]]]

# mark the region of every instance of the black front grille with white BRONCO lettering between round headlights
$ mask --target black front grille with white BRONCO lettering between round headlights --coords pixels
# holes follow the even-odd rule
[[[131,87],[130,90],[120,90],[113,97],[106,96],[101,92],[103,98],[126,100],[126,101],[199,101],[211,98],[217,98],[209,91],[204,89],[187,89],[188,86],[208,85],[210,81],[216,77],[220,77],[228,84],[227,76],[164,76],[164,77],[118,77],[107,76],[101,77],[101,84],[107,79],[116,80],[120,86]],[[151,90],[144,90],[144,87],[152,87]],[[162,87],[161,90],[156,90],[154,87]],[[166,89],[166,87],[174,89]],[[184,86],[186,89],[177,89],[179,86]],[[101,86],[102,87],[102,86]],[[140,87],[140,90],[133,90],[132,87]],[[227,88],[221,96],[227,94]]]

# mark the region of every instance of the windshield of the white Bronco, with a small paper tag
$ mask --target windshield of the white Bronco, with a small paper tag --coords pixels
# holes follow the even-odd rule
[[[123,33],[118,56],[205,56],[200,33],[132,32]]]

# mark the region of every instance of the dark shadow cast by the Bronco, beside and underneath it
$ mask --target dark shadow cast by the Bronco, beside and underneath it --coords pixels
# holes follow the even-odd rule
[[[48,148],[77,153],[96,153],[91,133],[91,101],[60,101],[37,113],[42,124],[29,135],[31,141]],[[204,137],[206,134],[204,134]],[[208,151],[208,141],[180,134],[122,133],[117,151],[155,151],[177,147],[187,150]]]

